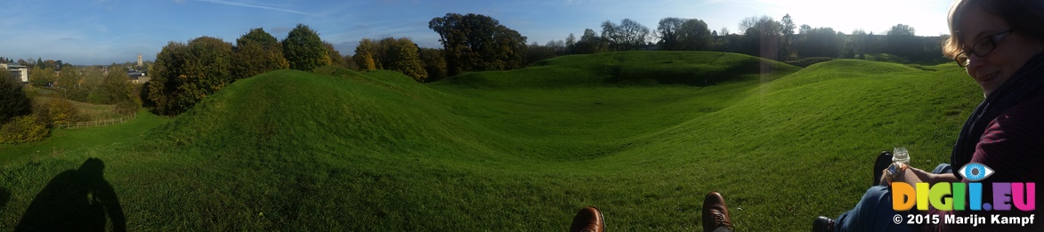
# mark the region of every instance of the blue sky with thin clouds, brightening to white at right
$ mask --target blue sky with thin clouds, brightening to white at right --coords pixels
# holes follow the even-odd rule
[[[797,25],[832,27],[850,33],[884,33],[907,24],[918,35],[947,33],[952,0],[42,0],[8,1],[0,7],[0,56],[43,57],[73,65],[152,60],[168,42],[209,35],[234,43],[251,28],[277,38],[298,23],[310,26],[341,54],[362,37],[410,37],[421,47],[441,48],[428,21],[447,12],[481,14],[543,45],[576,37],[601,22],[635,20],[656,29],[666,17],[694,18],[712,30],[733,32],[746,17],[779,20],[790,14]]]

